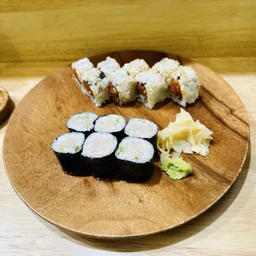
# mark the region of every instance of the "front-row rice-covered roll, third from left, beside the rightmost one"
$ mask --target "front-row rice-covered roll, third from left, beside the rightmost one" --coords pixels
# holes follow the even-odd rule
[[[164,77],[159,73],[148,70],[135,76],[138,101],[145,104],[145,107],[153,108],[158,102],[168,97],[168,86]]]

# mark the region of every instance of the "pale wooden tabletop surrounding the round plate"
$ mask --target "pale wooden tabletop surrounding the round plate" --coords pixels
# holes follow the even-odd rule
[[[250,123],[251,143],[244,168],[215,206],[187,225],[141,239],[105,241],[59,230],[36,216],[8,181],[2,163],[6,122],[0,130],[0,255],[256,255],[256,59],[196,60],[230,83]],[[17,104],[41,78],[68,63],[0,64],[0,86]]]

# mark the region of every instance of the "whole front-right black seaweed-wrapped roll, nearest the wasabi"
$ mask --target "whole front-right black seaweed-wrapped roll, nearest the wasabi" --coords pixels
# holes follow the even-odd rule
[[[147,140],[126,137],[116,149],[120,177],[130,183],[144,183],[154,173],[154,148]]]

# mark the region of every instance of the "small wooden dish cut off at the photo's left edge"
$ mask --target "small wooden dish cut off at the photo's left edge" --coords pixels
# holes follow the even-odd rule
[[[6,89],[0,87],[0,125],[12,113],[13,104]]]

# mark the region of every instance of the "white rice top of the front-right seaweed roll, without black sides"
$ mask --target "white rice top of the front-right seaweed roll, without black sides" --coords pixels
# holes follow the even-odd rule
[[[121,140],[121,143],[116,149],[116,158],[135,162],[138,164],[145,164],[149,162],[154,155],[153,145],[147,140],[139,138],[126,137]]]

